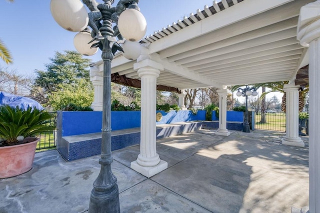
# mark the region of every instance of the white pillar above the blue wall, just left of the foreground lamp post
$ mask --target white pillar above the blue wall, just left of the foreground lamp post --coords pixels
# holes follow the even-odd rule
[[[97,67],[90,68],[90,81],[94,87],[94,99],[91,104],[93,111],[102,111],[102,91],[103,81],[102,72]]]

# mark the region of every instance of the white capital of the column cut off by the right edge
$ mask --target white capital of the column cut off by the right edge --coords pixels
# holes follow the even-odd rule
[[[301,7],[296,38],[302,46],[309,46],[312,40],[320,37],[320,0]]]

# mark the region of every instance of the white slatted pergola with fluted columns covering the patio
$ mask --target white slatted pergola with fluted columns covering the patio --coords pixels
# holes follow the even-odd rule
[[[311,3],[312,2],[312,3]],[[309,4],[308,4],[309,3]],[[307,4],[307,5],[306,5]],[[302,7],[302,9],[301,9]],[[300,11],[301,9],[301,11]],[[205,5],[140,41],[142,52],[137,60],[121,53],[114,56],[111,73],[141,80],[140,154],[131,168],[152,176],[166,168],[155,150],[155,86],[178,89],[216,87],[219,94],[219,128],[226,129],[226,86],[274,81],[289,81],[287,126],[283,144],[304,146],[298,137],[298,91],[309,65],[310,119],[310,212],[320,209],[320,144],[315,138],[320,114],[318,89],[320,37],[320,0],[221,0]],[[92,64],[91,81],[95,88],[92,107],[102,106],[102,62]],[[298,79],[297,79],[298,78]],[[314,93],[312,93],[314,92]],[[183,107],[183,93],[179,105]]]

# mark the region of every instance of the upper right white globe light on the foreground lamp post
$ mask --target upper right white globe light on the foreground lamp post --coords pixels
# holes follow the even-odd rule
[[[118,29],[126,40],[138,41],[146,32],[146,20],[140,11],[126,9],[119,16]]]

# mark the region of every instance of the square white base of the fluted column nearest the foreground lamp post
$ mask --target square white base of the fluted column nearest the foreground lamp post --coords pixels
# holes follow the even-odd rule
[[[139,172],[140,174],[146,176],[146,177],[151,177],[157,173],[159,173],[160,171],[163,171],[164,169],[166,169],[168,167],[168,163],[164,160],[160,159],[160,162],[155,165],[155,166],[141,166],[139,165],[136,160],[131,162],[130,168],[132,168],[133,170]]]

